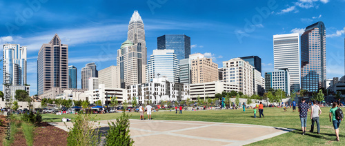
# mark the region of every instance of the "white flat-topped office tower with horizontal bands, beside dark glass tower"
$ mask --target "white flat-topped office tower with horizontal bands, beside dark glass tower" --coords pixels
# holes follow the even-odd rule
[[[290,74],[290,90],[298,92],[301,85],[299,34],[277,34],[273,36],[274,68],[287,68]]]

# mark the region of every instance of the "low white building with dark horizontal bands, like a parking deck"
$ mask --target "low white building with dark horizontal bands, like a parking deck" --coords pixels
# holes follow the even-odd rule
[[[224,81],[213,81],[207,83],[190,84],[190,98],[195,101],[197,98],[215,98],[215,94],[221,92],[238,92],[238,85],[225,83]]]

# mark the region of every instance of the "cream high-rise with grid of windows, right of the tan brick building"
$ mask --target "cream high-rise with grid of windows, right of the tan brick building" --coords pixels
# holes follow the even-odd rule
[[[240,58],[223,61],[223,79],[226,83],[238,85],[239,92],[246,95],[253,95],[253,70],[254,67],[248,61]]]

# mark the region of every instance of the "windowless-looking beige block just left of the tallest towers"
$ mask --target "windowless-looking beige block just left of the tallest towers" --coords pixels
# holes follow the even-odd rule
[[[105,87],[120,88],[120,67],[111,65],[98,72],[99,84],[104,84]]]

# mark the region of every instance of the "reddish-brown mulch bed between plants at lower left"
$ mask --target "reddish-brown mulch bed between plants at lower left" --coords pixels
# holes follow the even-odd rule
[[[0,119],[5,121],[5,116],[1,115]],[[2,145],[2,141],[4,140],[6,127],[8,121],[5,121],[3,126],[0,126],[0,145]],[[67,136],[68,132],[64,131],[63,129],[59,129],[58,127],[49,125],[48,123],[40,123],[34,129],[34,145],[40,146],[53,146],[53,145],[67,145]],[[13,146],[26,146],[26,139],[24,137],[21,128],[18,128],[17,134],[14,135],[14,143]]]

